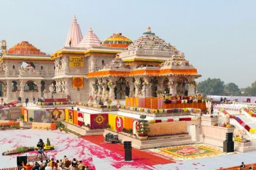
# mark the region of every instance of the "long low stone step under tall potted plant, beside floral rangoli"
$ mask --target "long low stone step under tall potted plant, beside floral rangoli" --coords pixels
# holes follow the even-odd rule
[[[148,140],[139,140],[138,138],[113,132],[108,129],[104,130],[104,137],[108,133],[118,135],[118,139],[121,141],[121,143],[123,143],[124,141],[132,141],[132,147],[136,149],[163,148],[182,144],[194,144],[194,141],[191,140],[191,136],[188,134],[149,137]]]

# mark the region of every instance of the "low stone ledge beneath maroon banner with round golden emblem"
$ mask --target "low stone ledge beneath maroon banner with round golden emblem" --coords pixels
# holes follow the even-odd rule
[[[89,129],[88,127],[84,126],[77,126],[76,124],[70,124],[66,121],[62,121],[62,123],[71,131],[77,132],[82,136],[88,135],[102,135],[104,133],[104,129]]]

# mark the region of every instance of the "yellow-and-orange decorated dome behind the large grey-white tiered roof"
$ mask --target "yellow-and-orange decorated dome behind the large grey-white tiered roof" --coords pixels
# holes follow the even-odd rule
[[[131,43],[132,40],[123,36],[122,33],[113,33],[112,36],[104,39],[102,46],[126,48]]]

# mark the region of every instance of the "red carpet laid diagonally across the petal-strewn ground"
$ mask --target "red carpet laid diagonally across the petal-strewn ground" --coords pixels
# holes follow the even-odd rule
[[[82,138],[90,141],[91,143],[98,144],[102,148],[108,149],[112,152],[115,152],[116,154],[124,156],[124,146],[122,144],[106,143],[104,141],[103,135],[84,136]],[[158,165],[158,164],[175,163],[175,161],[158,157],[157,155],[152,155],[152,154],[149,154],[148,152],[140,151],[134,148],[132,148],[132,159],[134,161],[138,161],[144,165],[149,165],[149,166]]]

